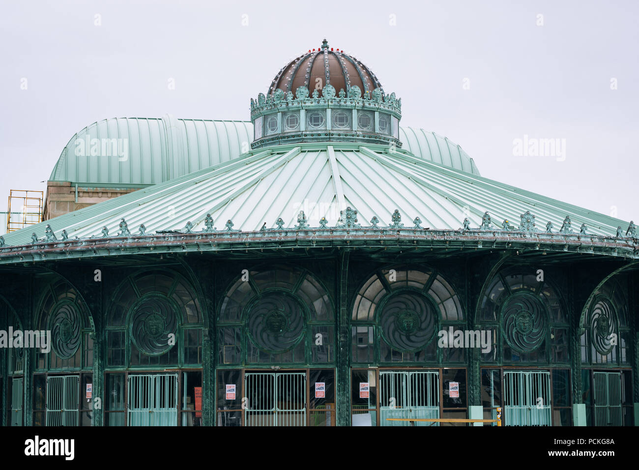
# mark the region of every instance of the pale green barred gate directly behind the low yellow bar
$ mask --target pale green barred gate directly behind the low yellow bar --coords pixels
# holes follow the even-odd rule
[[[380,371],[380,425],[413,425],[410,421],[387,421],[387,418],[439,418],[439,392],[437,371]]]

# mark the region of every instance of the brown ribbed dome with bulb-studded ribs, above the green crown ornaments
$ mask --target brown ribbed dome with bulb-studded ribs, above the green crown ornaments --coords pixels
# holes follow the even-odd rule
[[[357,85],[366,95],[375,88],[382,88],[375,74],[353,56],[328,46],[327,40],[318,49],[309,49],[275,76],[266,95],[272,95],[278,88],[284,93],[305,86],[309,91],[320,90],[330,83],[335,90],[348,94],[351,86]]]

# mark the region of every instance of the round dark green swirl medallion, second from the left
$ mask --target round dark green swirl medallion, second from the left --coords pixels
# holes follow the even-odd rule
[[[135,304],[131,315],[131,338],[149,356],[159,356],[173,347],[171,334],[178,327],[177,310],[164,295],[146,295]],[[174,341],[171,341],[174,343]]]

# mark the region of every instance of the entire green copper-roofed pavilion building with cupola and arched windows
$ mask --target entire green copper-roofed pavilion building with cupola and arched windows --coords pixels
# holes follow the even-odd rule
[[[401,104],[325,40],[250,121],[75,134],[0,237],[3,425],[637,425],[635,225]]]

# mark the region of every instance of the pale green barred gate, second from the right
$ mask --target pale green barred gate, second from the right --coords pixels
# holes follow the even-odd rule
[[[552,425],[550,372],[504,371],[504,424]]]

